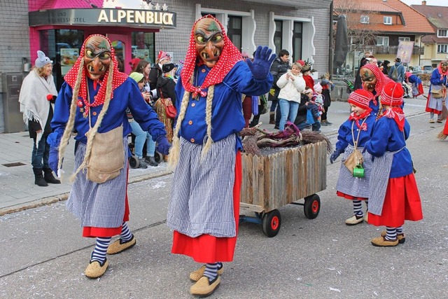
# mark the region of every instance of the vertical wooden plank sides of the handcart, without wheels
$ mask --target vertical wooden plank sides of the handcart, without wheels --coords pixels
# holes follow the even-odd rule
[[[326,188],[326,144],[267,156],[243,154],[241,202],[272,211]]]

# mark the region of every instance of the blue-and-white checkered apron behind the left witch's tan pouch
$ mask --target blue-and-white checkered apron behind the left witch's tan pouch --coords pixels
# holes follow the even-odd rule
[[[125,164],[120,174],[104,183],[94,183],[87,179],[87,171],[76,175],[66,207],[80,219],[81,227],[118,228],[125,214],[127,183],[127,137],[123,138]],[[74,171],[83,162],[86,145],[78,144],[75,153]]]

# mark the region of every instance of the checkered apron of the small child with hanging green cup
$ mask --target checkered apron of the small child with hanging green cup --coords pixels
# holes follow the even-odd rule
[[[363,167],[364,174],[363,178],[357,178],[351,174],[349,169],[345,167],[345,160],[353,153],[354,147],[349,144],[346,147],[344,154],[342,155],[342,163],[341,168],[339,169],[339,178],[336,183],[336,190],[342,192],[346,195],[351,195],[353,197],[369,197],[369,181],[370,181],[370,172],[372,170],[372,155],[365,151],[363,153]],[[363,148],[358,146],[358,150],[362,153]]]

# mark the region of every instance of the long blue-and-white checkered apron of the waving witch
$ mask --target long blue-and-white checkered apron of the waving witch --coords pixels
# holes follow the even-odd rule
[[[169,228],[190,237],[235,237],[233,185],[235,134],[212,144],[201,160],[201,144],[181,138],[168,207]]]

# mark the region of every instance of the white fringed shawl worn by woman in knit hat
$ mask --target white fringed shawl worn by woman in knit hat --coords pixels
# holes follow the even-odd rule
[[[48,101],[47,95],[57,95],[53,76],[50,75],[45,80],[45,78],[38,76],[35,68],[22,82],[19,95],[20,112],[23,113],[25,125],[28,125],[28,120],[36,120],[41,125],[42,132],[48,120],[50,104],[53,109],[55,108],[54,104]],[[41,140],[41,137],[42,134],[37,134],[36,144]]]

